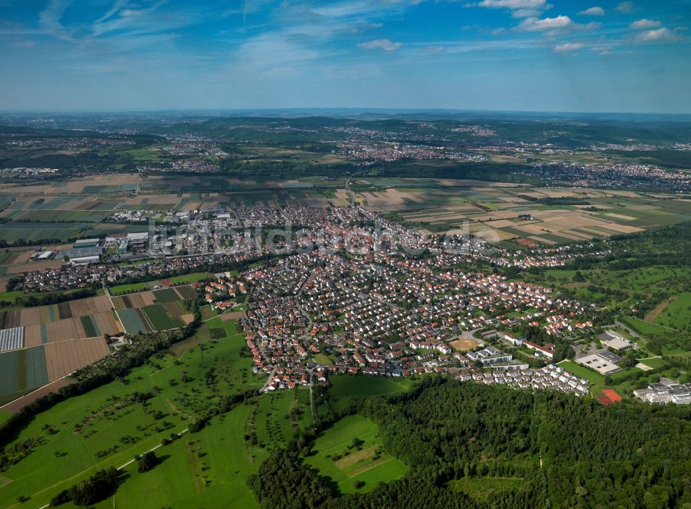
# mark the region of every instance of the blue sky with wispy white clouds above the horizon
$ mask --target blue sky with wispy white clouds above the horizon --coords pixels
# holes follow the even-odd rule
[[[0,0],[0,109],[691,113],[691,0]]]

